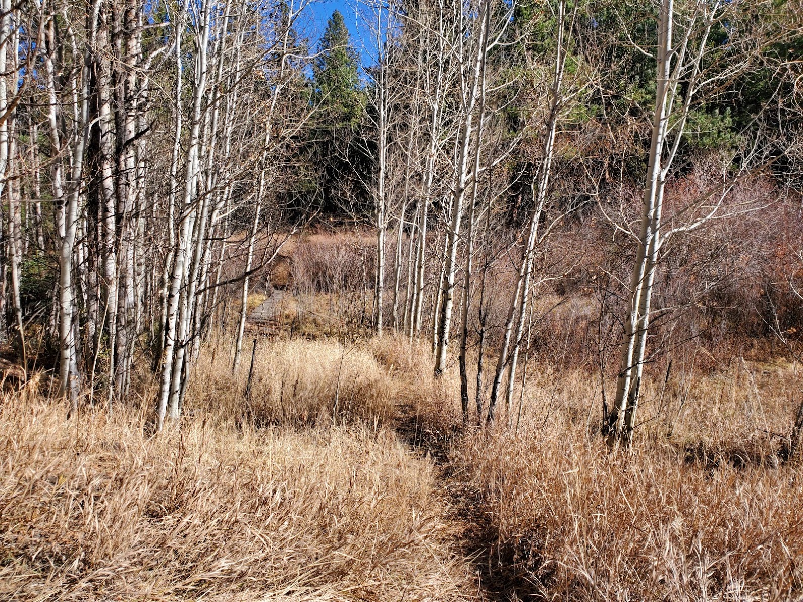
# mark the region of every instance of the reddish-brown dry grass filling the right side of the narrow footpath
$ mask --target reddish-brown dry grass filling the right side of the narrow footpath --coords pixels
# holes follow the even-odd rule
[[[803,598],[803,478],[764,429],[789,425],[796,376],[767,372],[675,383],[660,414],[650,385],[630,454],[589,437],[588,375],[534,378],[517,432],[450,453],[487,586],[520,600]]]

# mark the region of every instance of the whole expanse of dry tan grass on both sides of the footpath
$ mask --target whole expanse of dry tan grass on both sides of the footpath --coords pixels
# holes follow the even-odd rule
[[[227,336],[202,348],[158,434],[147,384],[70,421],[43,376],[7,388],[3,600],[803,595],[785,360],[646,385],[623,459],[590,368],[534,362],[489,431],[461,425],[456,367],[435,379],[402,337],[265,337],[235,374],[230,356]]]

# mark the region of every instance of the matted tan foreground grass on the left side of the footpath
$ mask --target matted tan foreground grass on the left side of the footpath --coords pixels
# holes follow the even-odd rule
[[[385,429],[64,415],[2,399],[2,600],[462,597],[432,466]]]

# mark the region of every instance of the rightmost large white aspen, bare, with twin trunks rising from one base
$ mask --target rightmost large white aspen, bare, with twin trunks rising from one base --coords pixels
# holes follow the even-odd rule
[[[687,207],[679,214],[683,219],[675,218],[675,225],[664,228],[664,189],[679,156],[692,108],[744,72],[752,63],[756,47],[765,43],[760,22],[752,31],[747,26],[748,21],[740,22],[740,17],[748,15],[749,6],[747,2],[691,2],[678,10],[674,0],[662,0],[658,7],[655,104],[642,216],[636,234],[638,246],[630,277],[630,309],[620,348],[616,395],[605,425],[611,446],[621,442],[629,447],[633,441],[646,361],[652,294],[662,247],[674,234],[696,230],[718,217],[734,183],[749,173],[756,161],[763,157],[760,144],[748,143],[748,148],[741,151],[736,173],[728,174],[728,168],[724,169],[718,187],[703,195],[703,203],[695,206],[699,209],[697,214]],[[748,16],[745,18],[749,19]],[[711,32],[723,23],[728,23],[731,31],[728,43],[733,50],[738,49],[739,54],[734,55],[736,59],[727,66],[716,61],[708,64],[711,53],[717,50]],[[744,31],[740,31],[737,23]],[[680,35],[675,36],[678,28]],[[691,216],[687,218],[687,214]]]

